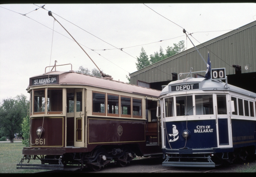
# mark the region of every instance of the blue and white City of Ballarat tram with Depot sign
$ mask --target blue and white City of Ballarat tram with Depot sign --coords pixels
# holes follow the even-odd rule
[[[256,93],[222,82],[225,68],[211,73],[162,90],[163,166],[215,167],[256,153]]]

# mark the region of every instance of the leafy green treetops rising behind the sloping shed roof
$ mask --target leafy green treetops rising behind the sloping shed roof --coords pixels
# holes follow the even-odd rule
[[[136,63],[137,69],[140,70],[148,65],[152,65],[158,61],[171,57],[172,55],[175,55],[185,50],[184,41],[180,41],[178,42],[178,44],[174,43],[173,46],[174,47],[170,47],[170,46],[167,47],[166,54],[164,54],[163,48],[160,46],[159,52],[156,51],[154,52],[154,55],[151,54],[149,56],[150,59],[148,59],[148,55],[142,47],[140,57],[137,57],[137,62],[138,62]]]

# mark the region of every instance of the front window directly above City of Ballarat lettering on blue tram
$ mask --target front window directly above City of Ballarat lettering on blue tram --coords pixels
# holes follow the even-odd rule
[[[212,95],[195,95],[196,115],[213,114]]]

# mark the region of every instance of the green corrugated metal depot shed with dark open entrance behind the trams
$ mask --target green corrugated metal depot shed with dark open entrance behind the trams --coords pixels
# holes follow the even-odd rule
[[[256,21],[197,45],[204,60],[210,54],[211,68],[226,68],[228,84],[256,93]],[[130,73],[131,84],[162,90],[177,80],[177,74],[206,71],[196,49],[190,48]],[[194,77],[204,77],[194,75]]]

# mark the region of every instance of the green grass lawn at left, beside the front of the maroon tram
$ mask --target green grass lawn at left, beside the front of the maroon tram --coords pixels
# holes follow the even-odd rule
[[[22,158],[23,147],[24,147],[24,144],[22,144],[22,142],[0,143],[0,173],[35,173],[35,172],[45,171],[45,170],[16,169],[16,165],[20,163],[20,160]],[[31,160],[30,163],[41,164],[41,161]]]

